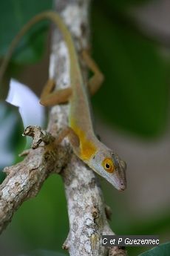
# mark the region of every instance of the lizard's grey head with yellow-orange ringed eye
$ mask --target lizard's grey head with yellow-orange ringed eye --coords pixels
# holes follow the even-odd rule
[[[126,188],[126,163],[109,148],[98,150],[89,161],[89,167],[118,190]]]

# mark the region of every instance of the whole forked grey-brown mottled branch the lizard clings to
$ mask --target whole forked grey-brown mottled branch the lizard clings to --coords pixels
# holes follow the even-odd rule
[[[80,51],[81,47],[87,47],[89,1],[57,0],[55,10],[69,27],[77,49]],[[86,77],[86,67],[82,64]],[[69,56],[58,30],[52,34],[50,78],[55,79],[57,88],[69,85]],[[8,175],[0,186],[0,232],[21,203],[34,197],[52,172],[61,171],[69,213],[69,234],[63,248],[71,256],[126,255],[118,247],[109,249],[101,246],[101,236],[114,233],[106,220],[105,203],[95,173],[72,154],[67,140],[57,147],[55,145],[54,137],[67,126],[68,108],[69,105],[57,105],[51,109],[48,132],[38,127],[29,127],[24,132],[33,137],[35,149],[24,152],[27,157],[21,163],[4,169]],[[107,214],[110,216],[108,209]]]

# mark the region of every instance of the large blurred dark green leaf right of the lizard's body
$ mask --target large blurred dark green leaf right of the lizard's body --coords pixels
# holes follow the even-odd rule
[[[157,47],[97,8],[92,22],[94,59],[106,78],[94,97],[95,107],[118,128],[143,137],[160,134],[166,126],[169,86]]]

